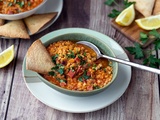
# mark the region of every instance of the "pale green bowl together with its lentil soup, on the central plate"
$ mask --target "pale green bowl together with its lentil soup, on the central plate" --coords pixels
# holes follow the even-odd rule
[[[64,34],[43,43],[55,66],[48,74],[38,76],[54,90],[67,95],[88,96],[102,92],[115,80],[118,63],[104,58],[97,60],[96,53],[77,44],[78,41],[92,42],[103,54],[115,57],[108,45],[96,37],[82,33]]]

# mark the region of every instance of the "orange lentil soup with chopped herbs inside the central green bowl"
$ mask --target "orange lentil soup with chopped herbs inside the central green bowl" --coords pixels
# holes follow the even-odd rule
[[[68,90],[91,91],[112,80],[112,66],[107,59],[96,59],[88,46],[72,41],[58,41],[47,47],[55,66],[43,75],[49,82]]]

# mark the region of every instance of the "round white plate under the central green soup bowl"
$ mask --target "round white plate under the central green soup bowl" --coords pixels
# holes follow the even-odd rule
[[[115,55],[119,58],[129,60],[124,50],[121,46],[116,43],[113,39],[108,36],[101,34],[96,31],[92,31],[89,29],[83,28],[67,28],[61,29],[57,31],[53,31],[44,37],[41,38],[42,42],[47,41],[61,34],[66,33],[88,33],[100,38],[103,42],[107,42],[111,49],[115,52]],[[24,81],[30,90],[30,92],[42,103],[65,112],[71,113],[85,113],[96,111],[102,109],[117,99],[119,99],[122,94],[127,89],[130,79],[131,79],[131,67],[123,64],[119,64],[119,71],[116,80],[108,87],[105,91],[89,96],[89,97],[76,97],[76,96],[68,96],[53,90],[48,87],[46,84],[40,81],[38,77],[36,77],[36,73],[32,71],[28,71],[25,68],[25,59],[23,62],[23,76]],[[35,76],[35,77],[33,77]]]

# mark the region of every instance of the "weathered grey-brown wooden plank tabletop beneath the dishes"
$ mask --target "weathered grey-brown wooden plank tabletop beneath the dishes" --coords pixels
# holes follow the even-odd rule
[[[113,38],[123,48],[133,42],[115,30],[107,17],[113,8],[105,0],[64,0],[58,20],[30,40],[0,39],[0,52],[15,45],[15,58],[0,69],[0,120],[159,120],[159,76],[132,68],[132,77],[125,93],[110,106],[89,113],[58,111],[37,100],[26,87],[22,62],[28,47],[41,36],[62,28],[80,27],[101,32]],[[122,1],[118,0],[122,6]],[[149,47],[150,48],[150,47]],[[158,51],[157,51],[158,53]],[[128,53],[127,53],[128,54]],[[157,54],[159,55],[159,54]],[[128,54],[131,61],[141,63]]]

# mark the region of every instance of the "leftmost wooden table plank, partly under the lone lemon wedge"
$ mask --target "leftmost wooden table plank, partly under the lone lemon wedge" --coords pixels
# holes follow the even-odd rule
[[[0,119],[3,120],[5,118],[5,114],[8,107],[10,90],[13,82],[13,74],[15,72],[15,62],[17,55],[17,47],[19,44],[19,40],[13,39],[0,39],[0,52],[4,51],[11,45],[15,45],[15,57],[11,64],[7,65],[5,68],[0,69]]]

